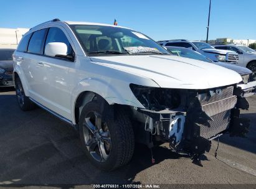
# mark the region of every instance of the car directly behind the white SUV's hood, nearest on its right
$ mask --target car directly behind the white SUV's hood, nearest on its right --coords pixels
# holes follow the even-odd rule
[[[204,55],[201,55],[201,53],[195,52],[194,50],[191,50],[189,48],[184,47],[166,47],[167,50],[173,55],[177,55],[179,57],[185,57],[185,58],[192,58],[196,60],[201,60],[207,63],[214,63],[216,65],[219,65],[220,67],[228,68],[230,70],[234,70],[237,73],[239,73],[243,80],[241,81],[244,88],[243,96],[248,97],[252,96],[256,92],[256,75],[249,70],[248,68],[240,67],[237,65],[234,65],[232,63],[224,63],[224,62],[213,62],[209,58],[205,57]]]

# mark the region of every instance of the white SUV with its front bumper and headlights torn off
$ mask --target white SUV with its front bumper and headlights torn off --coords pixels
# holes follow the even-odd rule
[[[29,30],[13,58],[19,107],[78,128],[103,170],[127,164],[135,141],[169,142],[196,163],[215,137],[248,132],[238,73],[173,56],[136,30],[54,19]]]

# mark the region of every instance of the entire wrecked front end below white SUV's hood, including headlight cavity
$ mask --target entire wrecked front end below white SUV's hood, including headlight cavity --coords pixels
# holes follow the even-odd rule
[[[212,139],[224,133],[244,137],[249,120],[239,115],[249,103],[234,90],[236,87],[183,90],[131,84],[133,94],[145,107],[134,113],[148,135],[143,142],[149,147],[154,141],[169,142],[174,152],[199,157],[209,152]]]

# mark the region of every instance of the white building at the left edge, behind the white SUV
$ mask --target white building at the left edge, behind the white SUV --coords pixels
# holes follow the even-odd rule
[[[16,48],[17,44],[29,29],[0,28],[0,48]]]

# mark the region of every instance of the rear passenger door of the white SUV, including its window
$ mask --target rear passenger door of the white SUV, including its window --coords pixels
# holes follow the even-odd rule
[[[46,104],[47,78],[46,70],[42,64],[42,49],[47,29],[34,32],[29,40],[27,55],[24,57],[24,67],[27,83],[29,85],[29,96],[40,104]]]

